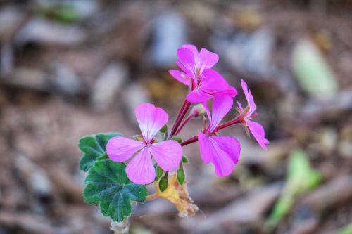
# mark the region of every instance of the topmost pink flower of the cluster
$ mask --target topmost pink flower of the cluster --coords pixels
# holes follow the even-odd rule
[[[179,61],[176,64],[181,71],[170,70],[172,77],[188,85],[191,92],[187,95],[190,103],[201,103],[213,98],[216,93],[236,96],[234,87],[227,84],[226,80],[215,70],[210,69],[218,63],[219,56],[216,53],[201,48],[198,53],[196,46],[184,45],[177,50]]]

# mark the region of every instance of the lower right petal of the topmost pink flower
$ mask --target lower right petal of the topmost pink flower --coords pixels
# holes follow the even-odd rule
[[[236,96],[237,91],[230,86],[226,79],[213,69],[206,69],[203,71],[200,89],[209,94],[223,93],[229,96]]]

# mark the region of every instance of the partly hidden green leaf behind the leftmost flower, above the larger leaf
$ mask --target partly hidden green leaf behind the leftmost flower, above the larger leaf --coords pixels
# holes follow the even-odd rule
[[[106,133],[89,135],[80,138],[78,148],[83,153],[80,160],[80,169],[88,171],[98,159],[106,158],[106,144],[114,136],[123,136],[120,133]]]

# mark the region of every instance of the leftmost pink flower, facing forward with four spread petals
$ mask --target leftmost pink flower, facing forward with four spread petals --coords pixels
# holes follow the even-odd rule
[[[108,141],[106,152],[115,162],[125,162],[135,155],[127,164],[127,177],[134,183],[147,184],[153,182],[156,176],[152,157],[164,171],[173,171],[180,164],[183,150],[177,141],[156,142],[153,139],[168,122],[165,110],[153,104],[142,103],[136,107],[135,115],[143,141],[115,136]]]

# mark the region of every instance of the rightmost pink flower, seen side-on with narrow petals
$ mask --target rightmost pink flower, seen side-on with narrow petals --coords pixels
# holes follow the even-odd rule
[[[266,145],[269,143],[269,141],[268,139],[265,138],[265,131],[263,126],[258,124],[257,122],[253,122],[249,120],[249,119],[252,119],[253,116],[257,115],[256,113],[257,106],[256,106],[256,103],[254,103],[251,90],[248,89],[248,86],[243,79],[241,79],[241,86],[248,103],[247,107],[244,109],[242,108],[241,103],[237,102],[237,104],[239,105],[239,112],[242,115],[241,122],[245,124],[246,127],[248,127],[248,129],[253,134],[254,138],[256,138],[256,141],[258,141],[261,148],[263,148],[263,150],[267,150],[268,147]]]

